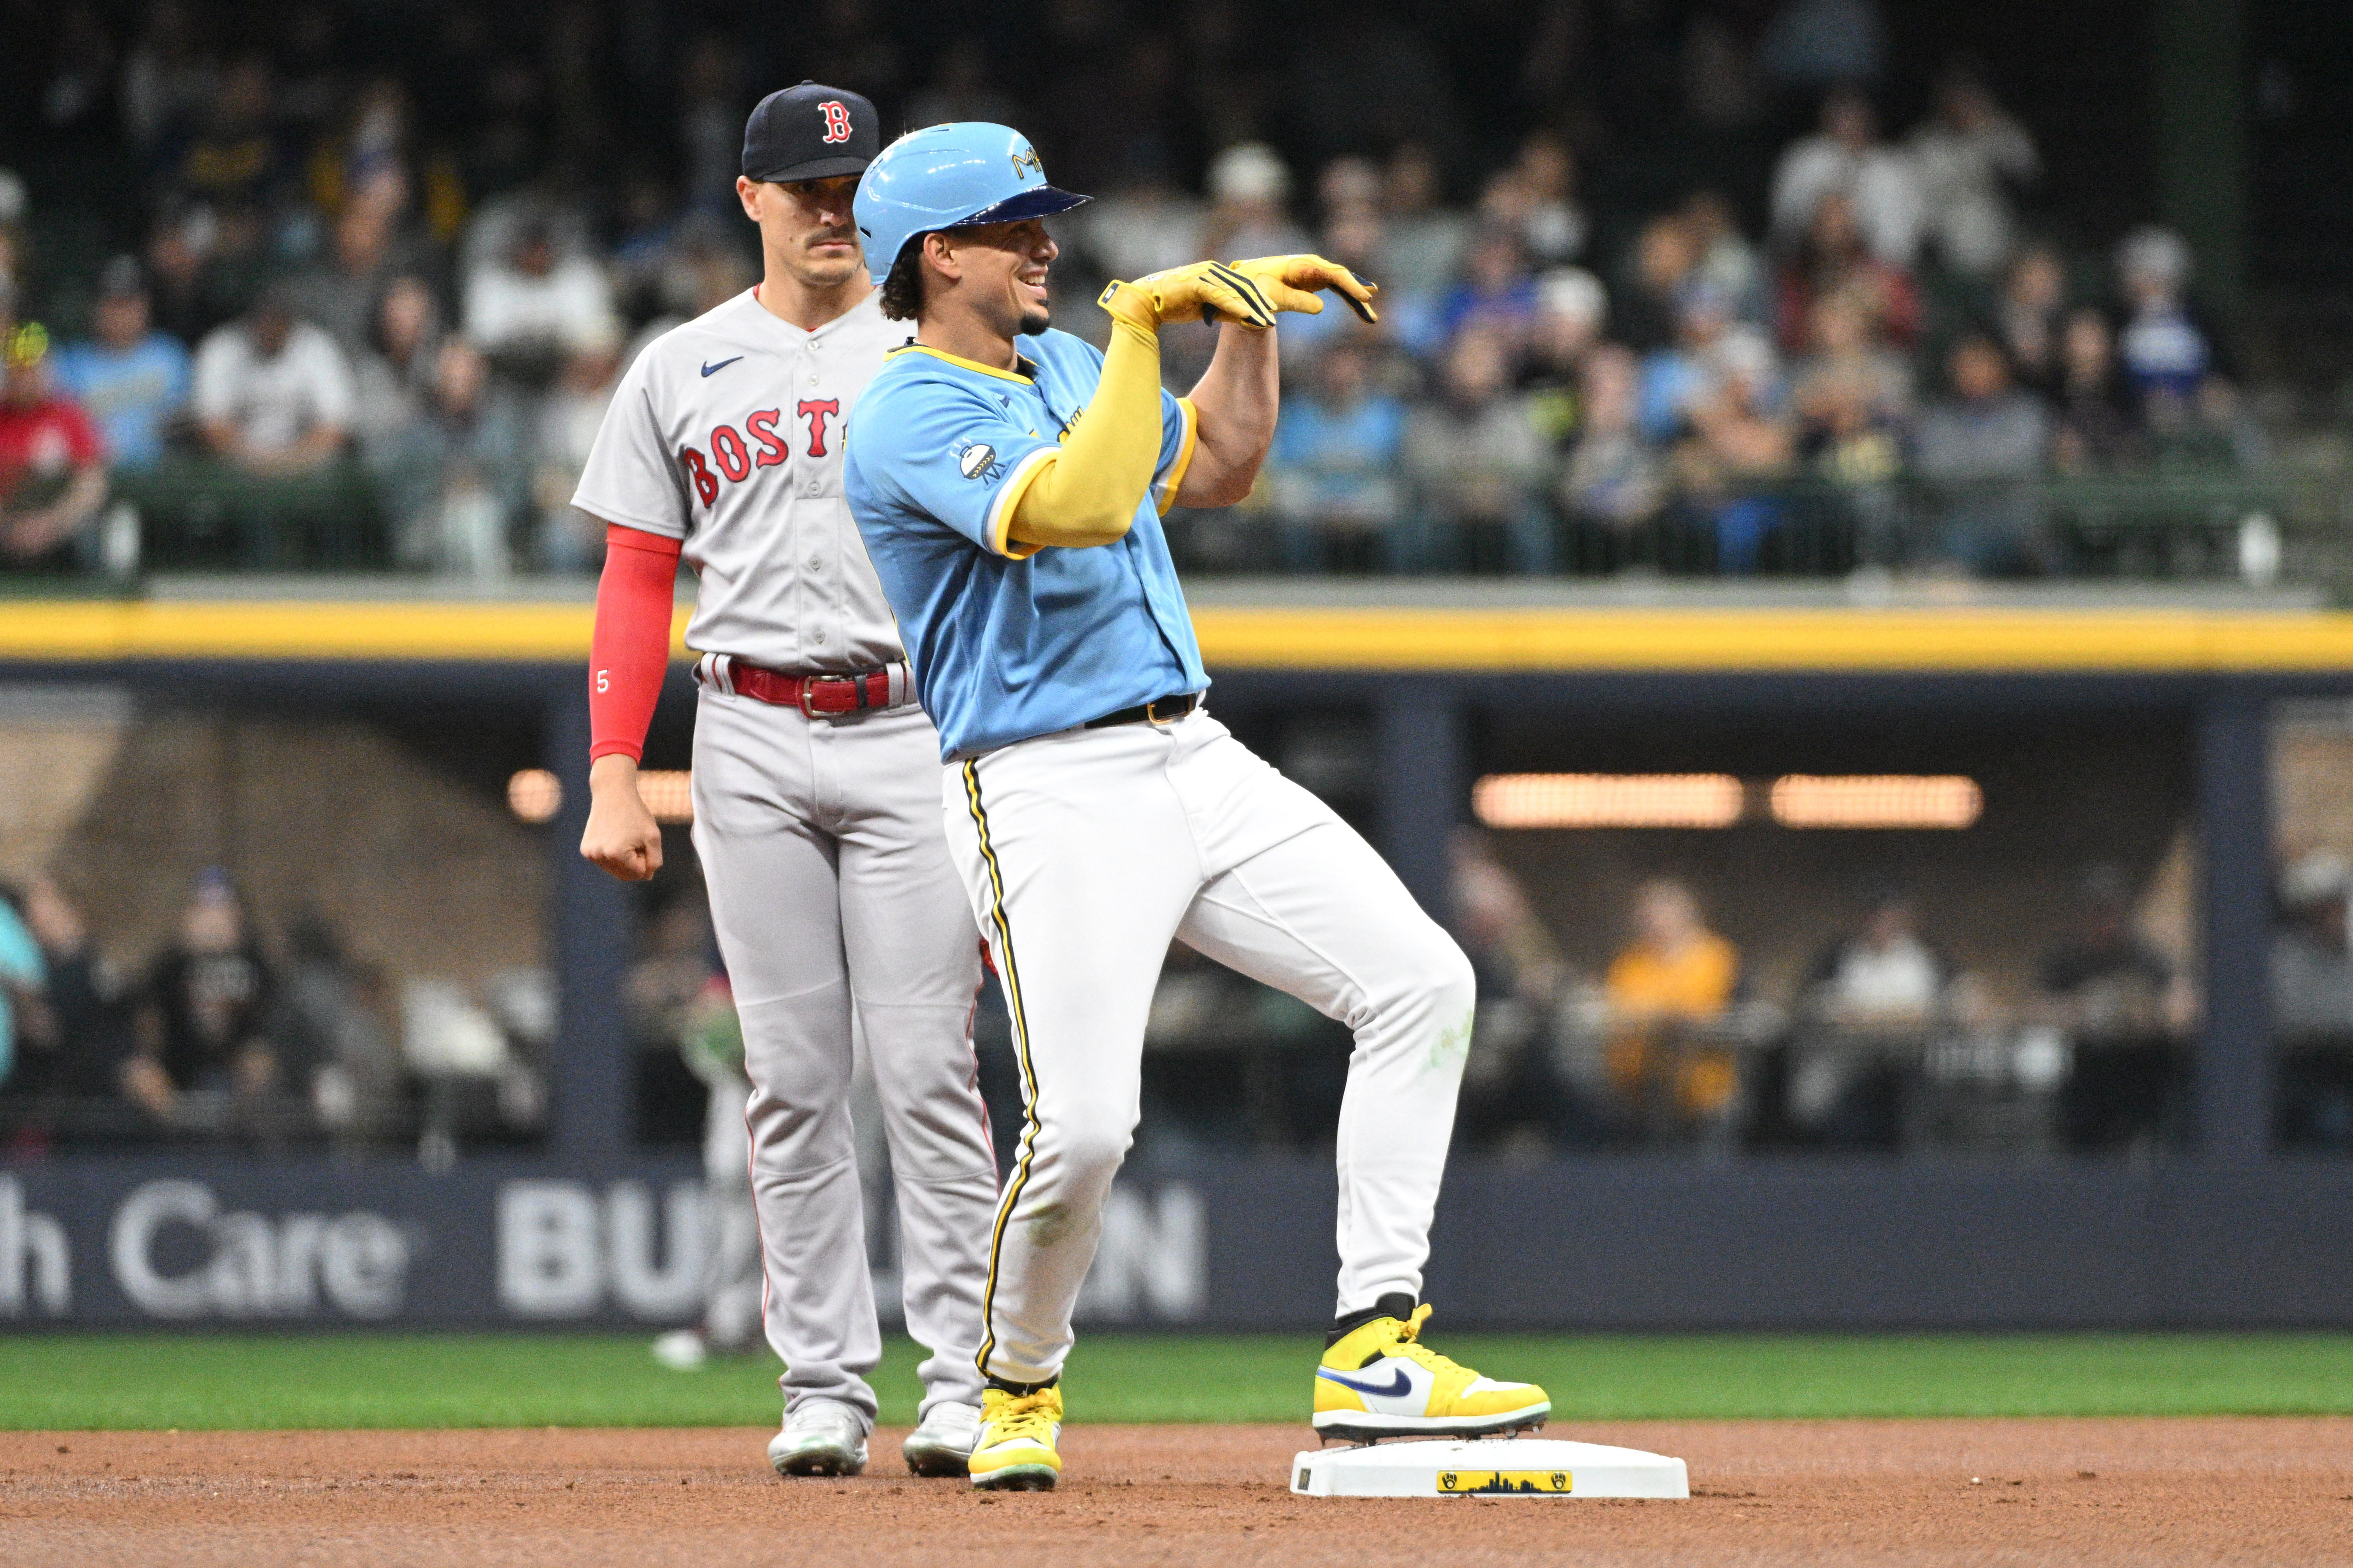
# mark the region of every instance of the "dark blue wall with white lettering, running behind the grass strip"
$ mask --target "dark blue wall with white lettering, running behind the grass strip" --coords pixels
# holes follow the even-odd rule
[[[1134,1168],[1080,1318],[1308,1330],[1329,1165]],[[887,1203],[875,1205],[887,1210]],[[0,1172],[0,1328],[656,1326],[694,1316],[687,1161],[52,1161]],[[896,1295],[894,1243],[873,1243]],[[1459,1328],[2353,1326],[2353,1165],[1461,1161]]]

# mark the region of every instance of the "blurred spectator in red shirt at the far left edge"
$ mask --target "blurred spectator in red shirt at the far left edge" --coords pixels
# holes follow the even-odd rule
[[[89,553],[89,523],[106,501],[106,443],[52,388],[40,323],[9,332],[0,360],[0,565],[73,565]]]

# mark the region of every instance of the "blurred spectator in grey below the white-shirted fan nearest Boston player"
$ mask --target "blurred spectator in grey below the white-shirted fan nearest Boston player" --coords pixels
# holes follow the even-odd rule
[[[478,579],[513,570],[508,532],[529,490],[529,431],[473,344],[442,341],[419,417],[379,443],[369,466],[398,560]]]

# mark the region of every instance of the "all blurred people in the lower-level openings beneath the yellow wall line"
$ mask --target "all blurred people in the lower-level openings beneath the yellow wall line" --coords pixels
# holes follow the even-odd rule
[[[2040,1156],[2151,1154],[2186,1132],[2198,994],[2134,928],[2113,866],[2082,876],[2026,975],[1955,965],[1929,935],[1934,911],[1885,883],[1772,996],[1685,881],[1635,888],[1595,972],[1565,961],[1473,829],[1457,841],[1452,895],[1480,977],[1461,1109],[1475,1147]],[[2287,1147],[2353,1151],[2348,899],[2353,862],[2334,850],[2297,857],[2278,881],[2271,1010]],[[640,1137],[701,1128],[704,1092],[678,1043],[713,977],[701,897],[673,897],[621,984]],[[433,1161],[459,1140],[529,1137],[551,1001],[487,991],[395,984],[315,911],[266,939],[221,871],[195,881],[174,932],[132,968],[101,956],[64,878],[0,885],[0,1147],[332,1140]],[[981,1036],[1009,1050],[1002,1008]],[[1219,1107],[1235,1109],[1238,1085],[1252,1104],[1209,1142],[1329,1137],[1346,1031],[1304,1005],[1172,946],[1146,1045],[1148,1137],[1198,1142]]]

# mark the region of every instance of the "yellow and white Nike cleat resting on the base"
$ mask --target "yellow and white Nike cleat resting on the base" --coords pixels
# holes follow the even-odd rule
[[[1428,1307],[1384,1297],[1381,1314],[1341,1335],[1315,1368],[1315,1431],[1369,1443],[1386,1436],[1489,1436],[1534,1429],[1553,1401],[1532,1382],[1494,1382],[1421,1344]]]

